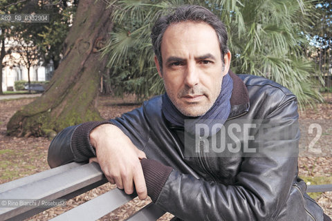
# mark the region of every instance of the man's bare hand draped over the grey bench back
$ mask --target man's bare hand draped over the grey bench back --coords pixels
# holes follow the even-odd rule
[[[124,189],[127,194],[133,193],[133,184],[140,200],[147,198],[147,186],[140,160],[145,153],[133,145],[129,137],[117,126],[102,124],[90,133],[90,142],[95,147],[100,168],[111,184]]]

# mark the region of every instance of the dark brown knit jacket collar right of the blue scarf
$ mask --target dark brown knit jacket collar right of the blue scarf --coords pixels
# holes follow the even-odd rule
[[[233,80],[233,91],[230,97],[230,115],[228,116],[228,119],[232,119],[248,113],[250,104],[246,85],[237,75],[232,73],[232,70],[228,74]]]

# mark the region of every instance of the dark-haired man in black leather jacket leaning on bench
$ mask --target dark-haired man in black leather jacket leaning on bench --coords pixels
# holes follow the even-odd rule
[[[120,118],[64,129],[50,144],[50,166],[98,162],[119,189],[128,194],[135,189],[140,199],[149,195],[183,220],[323,220],[322,209],[297,177],[296,97],[268,79],[234,75],[225,27],[201,6],[160,17],[151,39],[165,95]],[[277,122],[264,137],[287,133],[283,139],[260,140],[263,130],[252,126],[257,140],[239,135],[228,153],[201,151],[201,139],[221,137],[217,148],[226,142],[223,125],[232,119]],[[197,125],[206,125],[205,131],[196,131]],[[194,144],[192,135],[198,137]],[[246,155],[234,151],[238,144],[263,146],[263,151]]]

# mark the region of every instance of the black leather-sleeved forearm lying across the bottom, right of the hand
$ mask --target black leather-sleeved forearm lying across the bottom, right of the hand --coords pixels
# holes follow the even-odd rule
[[[296,158],[284,158],[284,161],[289,171],[295,170]],[[163,166],[161,171],[167,171],[167,166]],[[144,166],[143,172],[146,173]],[[151,190],[148,180],[160,171],[154,169],[150,172],[151,178],[145,174],[148,195],[156,195],[153,198],[156,204],[183,220],[273,220],[291,188],[288,184],[291,177],[283,177],[283,180],[274,177],[273,173],[268,174],[269,179],[266,180],[256,180],[247,173],[241,175],[241,182],[236,185],[224,185],[173,170],[168,175],[163,173],[167,180],[158,192],[158,182],[154,182]]]

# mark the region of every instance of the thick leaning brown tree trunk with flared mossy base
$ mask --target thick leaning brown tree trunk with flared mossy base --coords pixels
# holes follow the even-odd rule
[[[53,136],[67,126],[102,119],[95,97],[106,61],[99,49],[111,28],[111,9],[104,1],[80,0],[64,59],[46,92],[12,116],[9,135]]]

